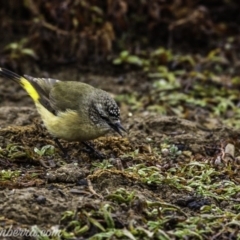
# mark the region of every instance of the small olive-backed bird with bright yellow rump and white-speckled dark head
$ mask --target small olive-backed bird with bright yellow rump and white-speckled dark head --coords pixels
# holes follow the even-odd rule
[[[86,83],[19,76],[5,68],[0,75],[18,82],[33,99],[49,133],[58,139],[85,141],[115,131],[122,136],[120,110],[109,93]],[[85,143],[86,144],[86,143]]]

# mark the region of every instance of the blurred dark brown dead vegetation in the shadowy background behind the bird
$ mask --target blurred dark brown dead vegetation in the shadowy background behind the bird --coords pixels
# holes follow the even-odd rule
[[[0,0],[0,6],[0,65],[18,71],[29,63],[97,68],[122,50],[141,55],[159,46],[204,54],[229,37],[239,58],[238,0]]]

